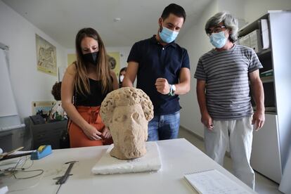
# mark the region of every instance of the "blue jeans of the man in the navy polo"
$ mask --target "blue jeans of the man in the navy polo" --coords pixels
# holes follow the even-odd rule
[[[148,122],[148,141],[178,138],[180,111],[169,115],[156,115]]]

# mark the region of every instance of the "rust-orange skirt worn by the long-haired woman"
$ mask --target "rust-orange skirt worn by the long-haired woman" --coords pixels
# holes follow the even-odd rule
[[[104,124],[99,115],[100,106],[95,107],[86,107],[86,106],[77,106],[77,111],[79,114],[93,127],[98,131],[103,132]],[[87,146],[96,146],[96,145],[110,145],[113,143],[112,138],[103,138],[103,140],[91,140],[89,139],[84,131],[77,125],[75,122],[70,120],[68,124],[68,131],[70,136],[70,147],[79,148]]]

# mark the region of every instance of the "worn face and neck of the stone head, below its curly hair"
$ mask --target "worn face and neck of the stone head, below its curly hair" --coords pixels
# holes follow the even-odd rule
[[[114,141],[112,156],[129,159],[145,155],[148,121],[140,104],[115,108],[110,131]]]

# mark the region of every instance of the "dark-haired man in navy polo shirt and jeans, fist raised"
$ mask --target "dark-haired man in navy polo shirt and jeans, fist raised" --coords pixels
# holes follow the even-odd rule
[[[154,118],[148,124],[148,141],[177,138],[180,125],[180,94],[190,91],[190,65],[185,48],[174,42],[186,19],[184,9],[169,4],[150,39],[132,46],[122,86],[136,87],[150,96]]]

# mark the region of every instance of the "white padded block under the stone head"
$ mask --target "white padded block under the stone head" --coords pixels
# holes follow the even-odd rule
[[[162,167],[157,143],[146,142],[147,153],[143,157],[132,160],[119,160],[110,155],[113,144],[92,168],[93,174],[124,174],[130,172],[157,171]]]

